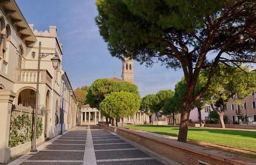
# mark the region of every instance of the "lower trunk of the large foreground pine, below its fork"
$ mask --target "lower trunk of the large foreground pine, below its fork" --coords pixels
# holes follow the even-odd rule
[[[180,116],[180,128],[179,128],[179,136],[178,141],[186,143],[188,136],[188,121],[189,121],[189,113],[190,106],[188,102],[184,102],[182,104],[182,112]]]

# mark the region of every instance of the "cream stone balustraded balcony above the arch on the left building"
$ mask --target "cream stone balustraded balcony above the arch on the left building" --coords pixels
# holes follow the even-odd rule
[[[36,69],[17,69],[16,83],[36,84],[37,70]],[[39,83],[47,84],[52,88],[52,76],[46,69],[40,70]]]

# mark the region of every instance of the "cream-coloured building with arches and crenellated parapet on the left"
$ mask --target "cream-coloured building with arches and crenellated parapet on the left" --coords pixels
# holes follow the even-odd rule
[[[35,109],[39,42],[42,53],[55,53],[60,58],[58,69],[52,67],[52,56],[41,59],[38,110],[43,114],[44,129],[40,140],[60,133],[61,107],[63,131],[77,125],[79,109],[67,74],[62,70],[63,51],[56,26],[37,31],[26,22],[14,0],[3,0],[0,4],[0,162],[4,162],[15,156],[14,149],[8,146],[12,105]],[[15,149],[17,153],[28,148]]]

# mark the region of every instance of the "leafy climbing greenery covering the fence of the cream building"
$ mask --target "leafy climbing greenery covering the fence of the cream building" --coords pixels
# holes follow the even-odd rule
[[[18,116],[12,116],[10,122],[9,146],[14,147],[31,140],[32,117],[29,114],[22,113]],[[42,117],[37,118],[36,138],[42,135],[43,123]]]

